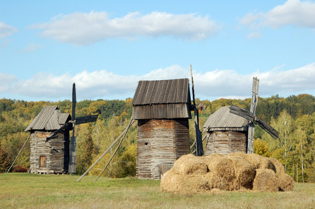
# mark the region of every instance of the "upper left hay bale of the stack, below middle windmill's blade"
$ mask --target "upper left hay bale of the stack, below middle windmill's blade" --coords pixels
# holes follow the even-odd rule
[[[178,174],[205,174],[207,173],[207,164],[205,164],[205,157],[196,157],[194,155],[183,155],[176,160],[173,169]]]

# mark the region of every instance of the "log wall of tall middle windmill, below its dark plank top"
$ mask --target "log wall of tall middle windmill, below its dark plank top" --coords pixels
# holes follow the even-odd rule
[[[161,164],[171,168],[189,151],[188,119],[138,121],[137,178],[159,179]]]

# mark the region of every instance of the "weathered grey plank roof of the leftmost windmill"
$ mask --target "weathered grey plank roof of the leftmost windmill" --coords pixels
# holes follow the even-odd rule
[[[57,130],[71,120],[70,114],[61,113],[56,105],[44,106],[24,131]]]

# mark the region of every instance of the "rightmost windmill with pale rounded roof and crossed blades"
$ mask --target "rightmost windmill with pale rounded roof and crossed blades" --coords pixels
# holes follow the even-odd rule
[[[220,153],[254,153],[254,121],[265,131],[277,138],[279,133],[261,118],[256,116],[259,80],[254,77],[251,99],[251,111],[235,105],[221,107],[211,114],[204,125],[207,132],[205,155]]]

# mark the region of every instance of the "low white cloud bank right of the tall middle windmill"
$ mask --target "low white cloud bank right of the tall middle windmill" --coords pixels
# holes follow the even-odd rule
[[[283,65],[282,65],[283,66]],[[278,70],[276,67],[268,72],[253,72],[240,75],[235,70],[214,70],[204,74],[196,74],[196,92],[206,97],[224,97],[248,95],[251,97],[251,82],[253,77],[260,80],[261,96],[293,95],[299,92],[315,92],[315,63],[293,70]],[[196,78],[195,78],[196,77]],[[198,86],[197,86],[198,84]],[[247,90],[247,88],[249,88]]]

